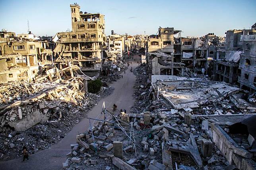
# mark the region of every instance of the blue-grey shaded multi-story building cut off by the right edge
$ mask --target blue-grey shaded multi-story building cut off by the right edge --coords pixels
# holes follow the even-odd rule
[[[256,28],[255,24],[252,30],[243,30],[240,36],[243,51],[240,57],[239,69],[241,75],[238,78],[240,88],[256,91]]]

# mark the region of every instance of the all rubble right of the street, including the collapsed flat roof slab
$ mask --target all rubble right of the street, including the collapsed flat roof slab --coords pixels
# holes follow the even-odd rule
[[[107,117],[111,119],[98,119],[88,131],[78,134],[77,143],[71,145],[72,151],[63,163],[64,169],[222,170],[237,167],[216,142],[214,127],[229,124],[230,115],[246,116],[248,111],[254,112],[253,103],[242,100],[241,104],[242,91],[219,82],[186,78],[154,81],[151,78],[149,87],[147,68],[143,64],[134,74],[137,75],[136,102],[130,113],[109,114]],[[208,90],[204,91],[206,87]],[[199,96],[198,103],[192,101],[191,108],[177,107],[172,99],[178,99],[178,104],[190,104],[182,101],[183,98],[193,100],[192,96],[186,97],[188,91]],[[165,96],[168,93],[175,96],[168,98]],[[183,98],[177,97],[179,95]]]

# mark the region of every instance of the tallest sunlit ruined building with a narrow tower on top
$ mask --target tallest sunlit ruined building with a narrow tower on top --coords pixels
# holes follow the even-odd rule
[[[71,32],[59,32],[53,52],[55,65],[68,67],[68,63],[78,65],[85,74],[98,77],[105,43],[105,19],[100,13],[80,11],[78,4],[71,4]]]

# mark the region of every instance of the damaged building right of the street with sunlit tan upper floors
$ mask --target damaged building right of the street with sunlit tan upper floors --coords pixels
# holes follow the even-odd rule
[[[149,36],[147,41],[147,63],[152,68],[152,74],[155,75],[175,75],[176,69],[182,70],[184,66],[182,63],[182,45],[181,45],[181,31],[174,30],[174,28],[159,28],[158,35]],[[178,37],[174,37],[175,34],[178,34]],[[155,58],[153,53],[161,52],[165,54],[164,60],[163,57],[159,60],[158,57]],[[156,62],[157,61],[157,62]],[[153,64],[154,63],[154,64]],[[172,64],[166,64],[172,63]],[[168,65],[168,67],[167,67]],[[179,65],[179,66],[178,66]]]

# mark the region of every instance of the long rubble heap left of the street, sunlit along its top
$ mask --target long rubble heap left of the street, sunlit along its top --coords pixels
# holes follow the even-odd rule
[[[34,82],[1,86],[0,159],[20,157],[24,145],[29,154],[50,147],[114,90],[105,86],[97,94],[86,93],[85,81],[90,80],[87,76],[62,79],[55,74],[52,81],[41,75],[43,78]]]

